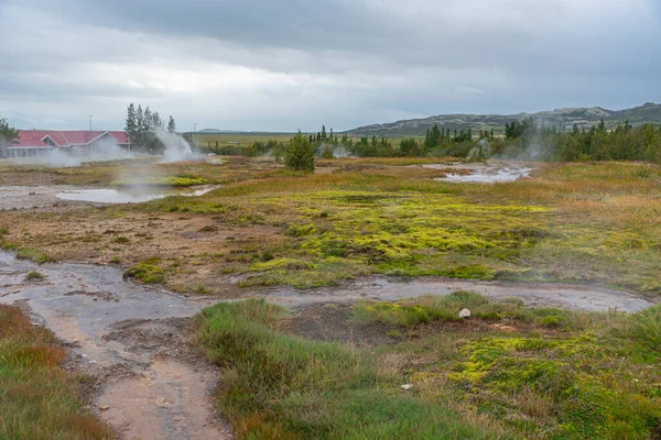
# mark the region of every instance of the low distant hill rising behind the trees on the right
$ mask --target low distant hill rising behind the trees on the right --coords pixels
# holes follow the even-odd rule
[[[602,119],[606,122],[607,128],[615,128],[618,123],[624,123],[627,120],[632,125],[642,125],[644,123],[659,124],[661,123],[661,105],[648,102],[643,106],[625,110],[587,107],[519,114],[440,114],[424,119],[410,119],[359,127],[347,131],[347,133],[388,138],[424,135],[434,124],[452,131],[470,128],[474,132],[494,129],[495,132],[500,133],[503,131],[506,123],[528,117],[532,117],[538,123],[543,123],[546,127],[556,127],[561,130],[571,130],[574,124],[577,124],[579,128],[589,128],[599,123]]]

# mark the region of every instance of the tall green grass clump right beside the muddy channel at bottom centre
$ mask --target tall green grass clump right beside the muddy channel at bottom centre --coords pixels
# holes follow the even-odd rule
[[[280,332],[283,308],[219,304],[201,318],[199,342],[225,367],[220,411],[242,439],[498,438],[381,376],[372,355]]]

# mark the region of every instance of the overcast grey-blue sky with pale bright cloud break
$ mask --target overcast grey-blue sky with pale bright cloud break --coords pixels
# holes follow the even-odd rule
[[[0,114],[336,131],[661,101],[660,0],[0,0]]]

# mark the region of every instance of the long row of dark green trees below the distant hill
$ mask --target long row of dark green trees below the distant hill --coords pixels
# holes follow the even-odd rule
[[[424,139],[387,138],[351,139],[326,131],[302,134],[317,158],[356,157],[487,157],[533,161],[646,161],[661,163],[661,128],[652,124],[633,128],[628,122],[607,130],[604,121],[590,129],[560,131],[537,124],[532,118],[512,121],[505,127],[505,136],[494,130],[474,133],[470,129],[451,131],[434,125]],[[297,136],[297,135],[296,135]],[[290,141],[291,142],[291,141]],[[220,155],[284,157],[290,142],[269,140],[250,146],[202,146],[204,152]]]

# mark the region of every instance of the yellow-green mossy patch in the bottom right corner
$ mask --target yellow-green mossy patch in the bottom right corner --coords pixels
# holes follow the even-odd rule
[[[479,411],[507,415],[513,426],[530,425],[532,417],[537,426],[527,429],[535,437],[650,438],[659,427],[661,389],[638,377],[649,377],[646,370],[653,362],[633,354],[636,340],[610,338],[585,333],[472,341],[446,373],[448,387]],[[622,354],[617,348],[631,356],[627,370],[614,365]]]

